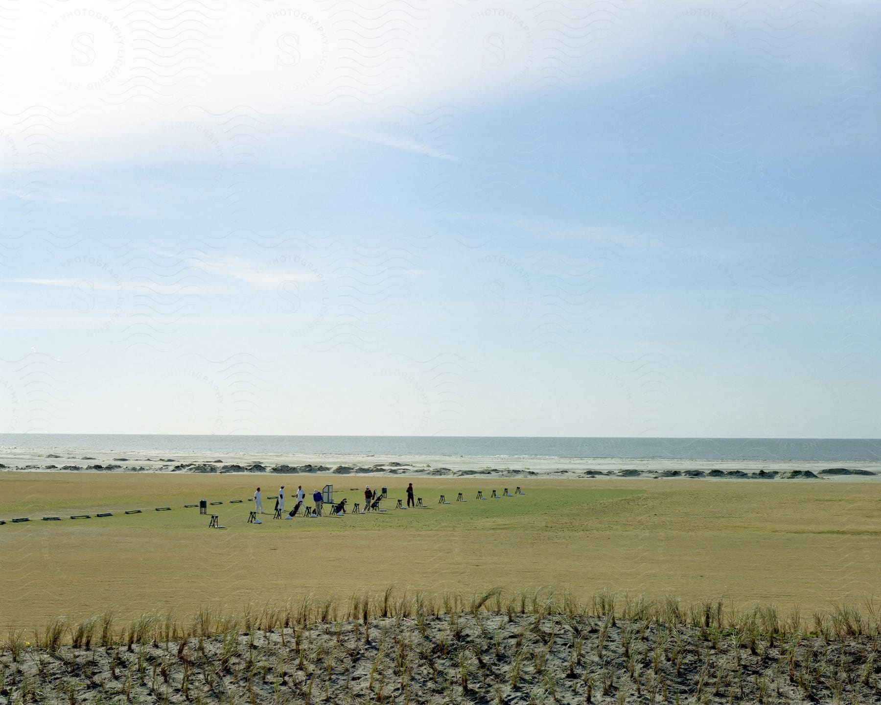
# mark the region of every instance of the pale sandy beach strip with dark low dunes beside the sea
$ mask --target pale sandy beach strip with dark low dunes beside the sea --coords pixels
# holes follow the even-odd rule
[[[707,479],[881,479],[881,464],[830,461],[677,460],[522,456],[367,456],[229,453],[223,456],[119,451],[83,454],[0,448],[0,471],[107,471],[404,475],[414,477],[558,477]],[[790,473],[796,473],[790,475]]]

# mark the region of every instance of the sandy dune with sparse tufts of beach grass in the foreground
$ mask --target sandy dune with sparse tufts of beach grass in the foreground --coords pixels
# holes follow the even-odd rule
[[[0,692],[95,705],[877,701],[876,606],[833,606],[814,627],[817,618],[831,630],[768,603],[389,586],[189,617],[56,618],[33,641],[21,631],[0,641]],[[97,625],[107,626],[100,638],[77,641]]]

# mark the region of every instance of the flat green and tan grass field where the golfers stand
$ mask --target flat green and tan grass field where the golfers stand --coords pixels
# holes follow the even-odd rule
[[[389,486],[379,514],[246,522],[264,497],[332,482],[362,501]],[[708,480],[518,480],[525,496],[476,501],[517,481],[418,479],[425,509],[394,509],[405,478],[131,473],[0,473],[0,626],[33,627],[116,606],[190,613],[315,592],[468,593],[553,586],[685,599],[726,597],[803,609],[860,602],[881,584],[881,483]],[[358,486],[357,490],[350,488]],[[458,492],[467,502],[455,502]],[[449,505],[438,505],[445,494]],[[226,525],[209,530],[209,507]],[[230,504],[233,499],[246,500]],[[154,508],[170,506],[167,512]],[[292,506],[288,500],[288,506]],[[125,509],[142,514],[125,516]],[[71,514],[115,516],[70,520]],[[41,516],[63,516],[43,522]]]

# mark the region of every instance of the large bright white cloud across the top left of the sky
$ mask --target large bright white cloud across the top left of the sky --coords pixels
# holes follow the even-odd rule
[[[447,114],[544,100],[543,86],[578,91],[749,54],[761,39],[751,18],[773,24],[782,12],[624,0],[381,7],[23,4],[4,47],[10,68],[0,68],[3,111],[19,130],[11,137],[23,152],[26,136],[45,135],[48,160],[74,167],[231,160],[243,146],[280,144],[294,127],[453,160],[433,137]],[[845,21],[835,11],[804,19],[803,31]],[[819,39],[831,45],[832,35]]]

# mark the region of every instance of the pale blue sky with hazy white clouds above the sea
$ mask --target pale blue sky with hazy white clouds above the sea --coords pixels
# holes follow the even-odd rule
[[[881,436],[876,3],[0,17],[0,433]]]

